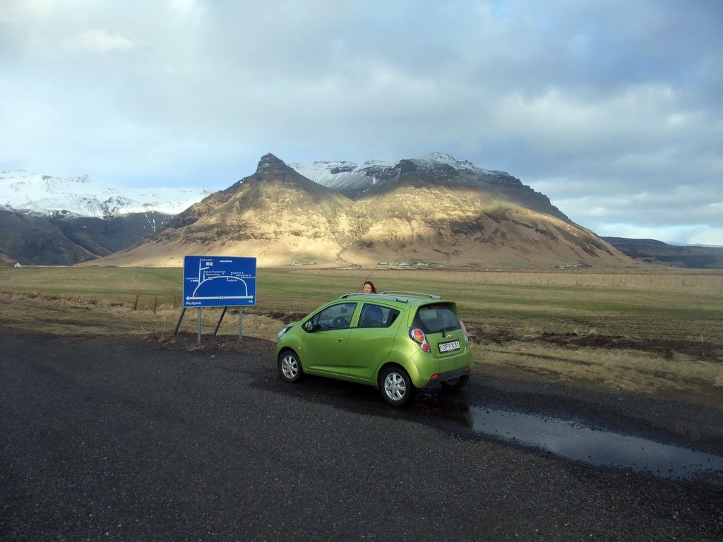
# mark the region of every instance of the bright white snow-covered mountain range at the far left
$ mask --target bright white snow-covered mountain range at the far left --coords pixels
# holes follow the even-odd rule
[[[26,215],[113,218],[133,213],[176,215],[211,194],[205,188],[115,188],[82,177],[25,170],[0,173],[0,207]]]

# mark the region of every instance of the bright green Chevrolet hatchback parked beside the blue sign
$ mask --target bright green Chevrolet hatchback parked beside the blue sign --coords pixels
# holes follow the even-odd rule
[[[416,292],[347,293],[278,333],[281,379],[315,374],[378,387],[401,406],[439,382],[459,389],[474,360],[457,305]]]

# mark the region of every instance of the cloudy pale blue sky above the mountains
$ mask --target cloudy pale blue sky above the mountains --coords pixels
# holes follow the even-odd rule
[[[723,246],[723,1],[0,0],[0,171],[224,189],[446,152]]]

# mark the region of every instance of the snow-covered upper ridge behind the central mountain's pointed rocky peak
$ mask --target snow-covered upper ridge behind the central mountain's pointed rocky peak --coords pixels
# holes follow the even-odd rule
[[[404,165],[435,173],[436,176],[455,175],[462,178],[474,178],[488,182],[504,180],[505,184],[517,179],[504,171],[490,171],[478,168],[467,160],[460,160],[444,152],[430,152],[429,154],[412,158],[411,160],[398,160],[396,162],[369,160],[362,164],[352,162],[317,161],[312,164],[290,163],[290,168],[304,177],[310,178],[318,184],[333,188],[349,197],[363,194],[372,186],[384,184],[401,173]]]

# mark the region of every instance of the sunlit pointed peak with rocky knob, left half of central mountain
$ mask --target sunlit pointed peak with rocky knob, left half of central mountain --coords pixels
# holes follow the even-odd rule
[[[294,259],[334,264],[354,238],[352,202],[296,173],[273,155],[257,171],[215,192],[98,264],[180,265],[184,255],[253,256],[260,265]]]

